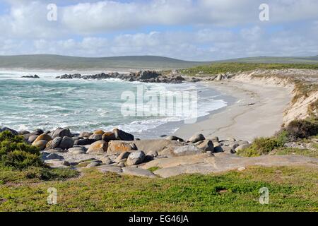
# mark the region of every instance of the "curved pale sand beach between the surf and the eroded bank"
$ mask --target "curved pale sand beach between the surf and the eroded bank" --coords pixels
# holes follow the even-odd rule
[[[213,89],[237,98],[234,105],[211,114],[196,124],[184,124],[175,136],[189,138],[194,133],[220,139],[233,137],[253,141],[259,136],[272,136],[283,124],[283,112],[292,96],[290,88],[252,83],[222,81],[206,83]],[[249,105],[254,104],[254,105]]]

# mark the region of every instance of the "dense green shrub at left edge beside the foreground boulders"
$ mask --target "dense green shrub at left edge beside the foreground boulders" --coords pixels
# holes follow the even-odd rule
[[[42,166],[40,150],[24,142],[22,136],[15,136],[10,131],[0,133],[1,165],[14,169],[25,169],[30,166]]]

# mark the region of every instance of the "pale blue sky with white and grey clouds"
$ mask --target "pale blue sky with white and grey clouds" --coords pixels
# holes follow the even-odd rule
[[[318,1],[0,0],[0,55],[17,54],[316,56]]]

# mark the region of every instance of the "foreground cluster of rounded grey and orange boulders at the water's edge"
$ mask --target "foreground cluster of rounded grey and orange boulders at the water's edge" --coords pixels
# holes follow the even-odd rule
[[[71,133],[69,129],[64,128],[54,131],[36,129],[33,132],[0,129],[5,130],[23,136],[25,142],[40,148],[42,160],[51,167],[99,167],[102,172],[146,177],[155,176],[142,168],[153,160],[173,160],[175,157],[206,153],[233,154],[250,145],[247,141],[236,141],[235,138],[219,140],[218,137],[205,138],[202,134],[195,134],[188,141],[184,141],[177,136],[140,140],[120,129],[81,133]]]

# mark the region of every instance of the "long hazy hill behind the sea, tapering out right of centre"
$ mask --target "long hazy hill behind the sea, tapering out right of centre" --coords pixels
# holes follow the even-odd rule
[[[66,57],[59,55],[0,56],[0,68],[13,69],[184,69],[209,62],[168,57]]]

